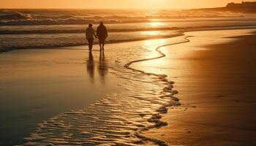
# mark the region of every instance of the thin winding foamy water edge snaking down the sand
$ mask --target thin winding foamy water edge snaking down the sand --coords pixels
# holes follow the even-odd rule
[[[148,131],[151,128],[161,128],[162,126],[167,126],[166,122],[163,122],[163,121],[160,120],[162,118],[162,115],[160,115],[160,114],[166,114],[167,113],[167,107],[180,106],[181,103],[179,102],[179,99],[176,96],[174,96],[178,93],[178,91],[173,90],[174,82],[173,81],[168,81],[166,74],[154,74],[154,73],[144,72],[144,71],[139,70],[139,69],[134,69],[134,68],[130,67],[130,65],[132,65],[134,63],[137,63],[137,62],[151,61],[151,60],[155,60],[155,59],[159,59],[159,58],[164,58],[166,55],[165,55],[165,53],[162,53],[162,51],[160,50],[162,47],[166,47],[166,46],[170,46],[170,45],[178,45],[178,44],[183,44],[183,43],[190,42],[190,40],[188,39],[189,37],[192,37],[192,36],[185,36],[184,37],[184,42],[170,43],[170,44],[167,44],[167,45],[161,45],[161,46],[157,47],[155,50],[157,51],[157,53],[160,54],[158,57],[145,58],[145,59],[140,59],[140,60],[137,60],[137,61],[130,61],[129,63],[124,65],[124,67],[126,69],[129,69],[129,70],[132,70],[132,71],[135,71],[135,72],[140,72],[140,73],[143,73],[143,74],[146,74],[146,75],[153,75],[153,76],[158,77],[158,79],[161,80],[162,82],[165,82],[166,87],[163,88],[163,91],[162,91],[163,95],[160,96],[160,97],[169,97],[170,99],[172,99],[174,101],[174,103],[165,104],[162,107],[159,107],[159,109],[157,110],[157,114],[152,115],[151,118],[148,119],[148,122],[155,123],[154,126],[148,126],[146,128],[143,128],[135,134],[136,137],[142,139],[143,141],[154,142],[155,144],[160,145],[160,146],[167,146],[167,143],[165,141],[146,137],[142,133],[143,133],[143,131]],[[170,94],[166,95],[164,93],[170,93]]]

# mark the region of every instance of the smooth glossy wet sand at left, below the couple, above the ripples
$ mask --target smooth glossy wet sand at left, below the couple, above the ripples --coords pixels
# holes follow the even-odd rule
[[[0,54],[0,145],[17,145],[38,123],[118,93],[119,80],[86,46]]]

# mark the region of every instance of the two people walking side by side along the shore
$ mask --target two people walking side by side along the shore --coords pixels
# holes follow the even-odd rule
[[[90,23],[89,27],[86,28],[86,39],[89,43],[89,51],[91,52],[92,46],[94,45],[94,37],[99,39],[100,51],[104,51],[105,40],[108,37],[108,30],[104,26],[103,22],[101,22],[97,27],[97,31],[95,34],[94,28],[92,28],[92,26],[93,24]]]

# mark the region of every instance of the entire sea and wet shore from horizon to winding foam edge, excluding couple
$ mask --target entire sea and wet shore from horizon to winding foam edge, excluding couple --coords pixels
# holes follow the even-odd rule
[[[89,54],[84,31],[100,21],[111,44]],[[17,50],[0,54],[0,145],[166,145],[141,133],[181,104],[174,82],[129,65],[164,57],[184,31],[255,26],[231,12],[1,9],[0,50]]]

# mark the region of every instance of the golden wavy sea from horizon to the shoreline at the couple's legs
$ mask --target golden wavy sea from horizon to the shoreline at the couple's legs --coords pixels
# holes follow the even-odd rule
[[[189,10],[1,9],[0,50],[86,45],[88,23],[108,27],[108,43],[181,35],[189,28],[255,26],[255,15]],[[97,42],[97,40],[96,40]]]

